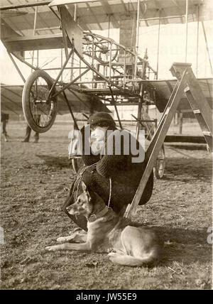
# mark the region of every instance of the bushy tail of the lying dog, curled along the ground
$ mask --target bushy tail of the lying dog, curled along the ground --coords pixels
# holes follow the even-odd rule
[[[153,254],[148,254],[147,256],[136,257],[128,256],[125,254],[109,254],[109,259],[112,263],[122,265],[122,266],[131,266],[131,267],[140,267],[140,266],[153,266],[159,261]]]

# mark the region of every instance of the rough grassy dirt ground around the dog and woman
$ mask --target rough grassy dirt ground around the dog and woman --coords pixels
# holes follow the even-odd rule
[[[24,127],[11,121],[10,141],[1,138],[1,289],[212,288],[212,161],[203,146],[165,147],[165,176],[134,218],[158,230],[164,257],[154,268],[129,268],[107,254],[45,251],[76,228],[61,211],[75,178],[70,125],[55,124],[39,143],[21,143]]]

